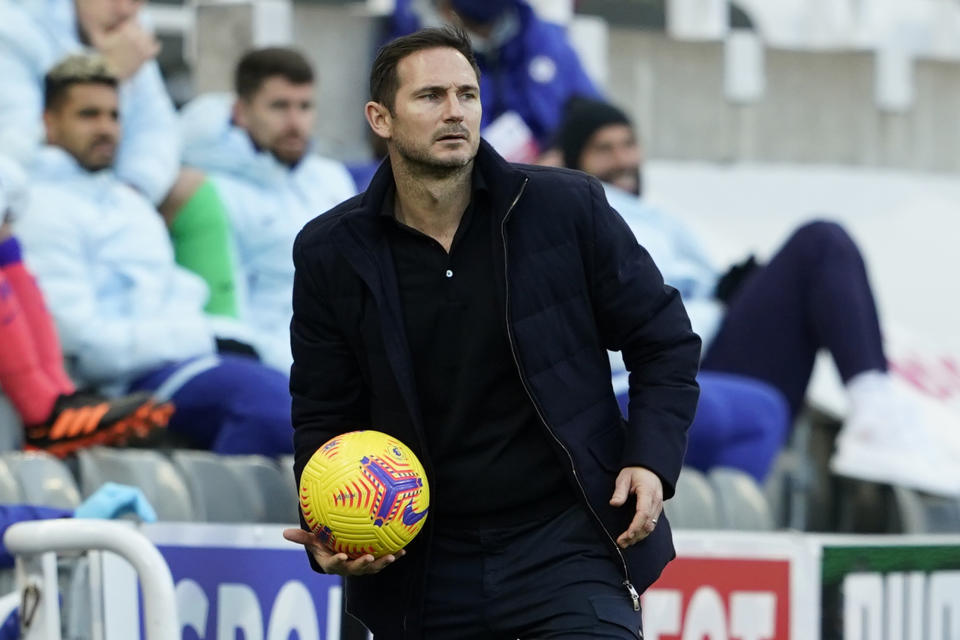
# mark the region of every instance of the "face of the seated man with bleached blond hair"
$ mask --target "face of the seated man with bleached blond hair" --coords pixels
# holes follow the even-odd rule
[[[76,158],[87,171],[113,165],[120,139],[117,90],[103,84],[76,84],[60,104],[43,114],[47,142]]]

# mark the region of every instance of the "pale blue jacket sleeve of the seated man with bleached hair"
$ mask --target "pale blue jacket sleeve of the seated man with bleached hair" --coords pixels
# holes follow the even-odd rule
[[[31,199],[47,210],[31,206],[17,223],[17,234],[57,322],[63,350],[75,358],[85,381],[128,380],[165,362],[213,352],[213,332],[199,310],[134,317],[103,309],[83,230],[72,220],[76,208],[42,204],[39,190],[31,192]]]

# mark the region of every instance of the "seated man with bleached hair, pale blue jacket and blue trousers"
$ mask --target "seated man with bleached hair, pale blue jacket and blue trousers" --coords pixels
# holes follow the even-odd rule
[[[291,451],[287,377],[249,355],[236,320],[203,311],[150,202],[117,179],[117,79],[99,56],[50,70],[27,211],[16,230],[85,383],[148,390],[169,430],[220,453]]]

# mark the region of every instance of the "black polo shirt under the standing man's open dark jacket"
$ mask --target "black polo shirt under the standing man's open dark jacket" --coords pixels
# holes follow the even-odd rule
[[[557,445],[523,388],[499,302],[489,191],[473,194],[450,253],[398,222],[393,188],[381,218],[397,271],[440,526],[509,526],[574,501]]]

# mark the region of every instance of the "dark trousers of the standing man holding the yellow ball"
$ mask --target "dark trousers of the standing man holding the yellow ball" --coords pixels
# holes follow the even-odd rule
[[[439,529],[423,637],[636,640],[640,612],[610,544],[579,504],[509,529]]]

